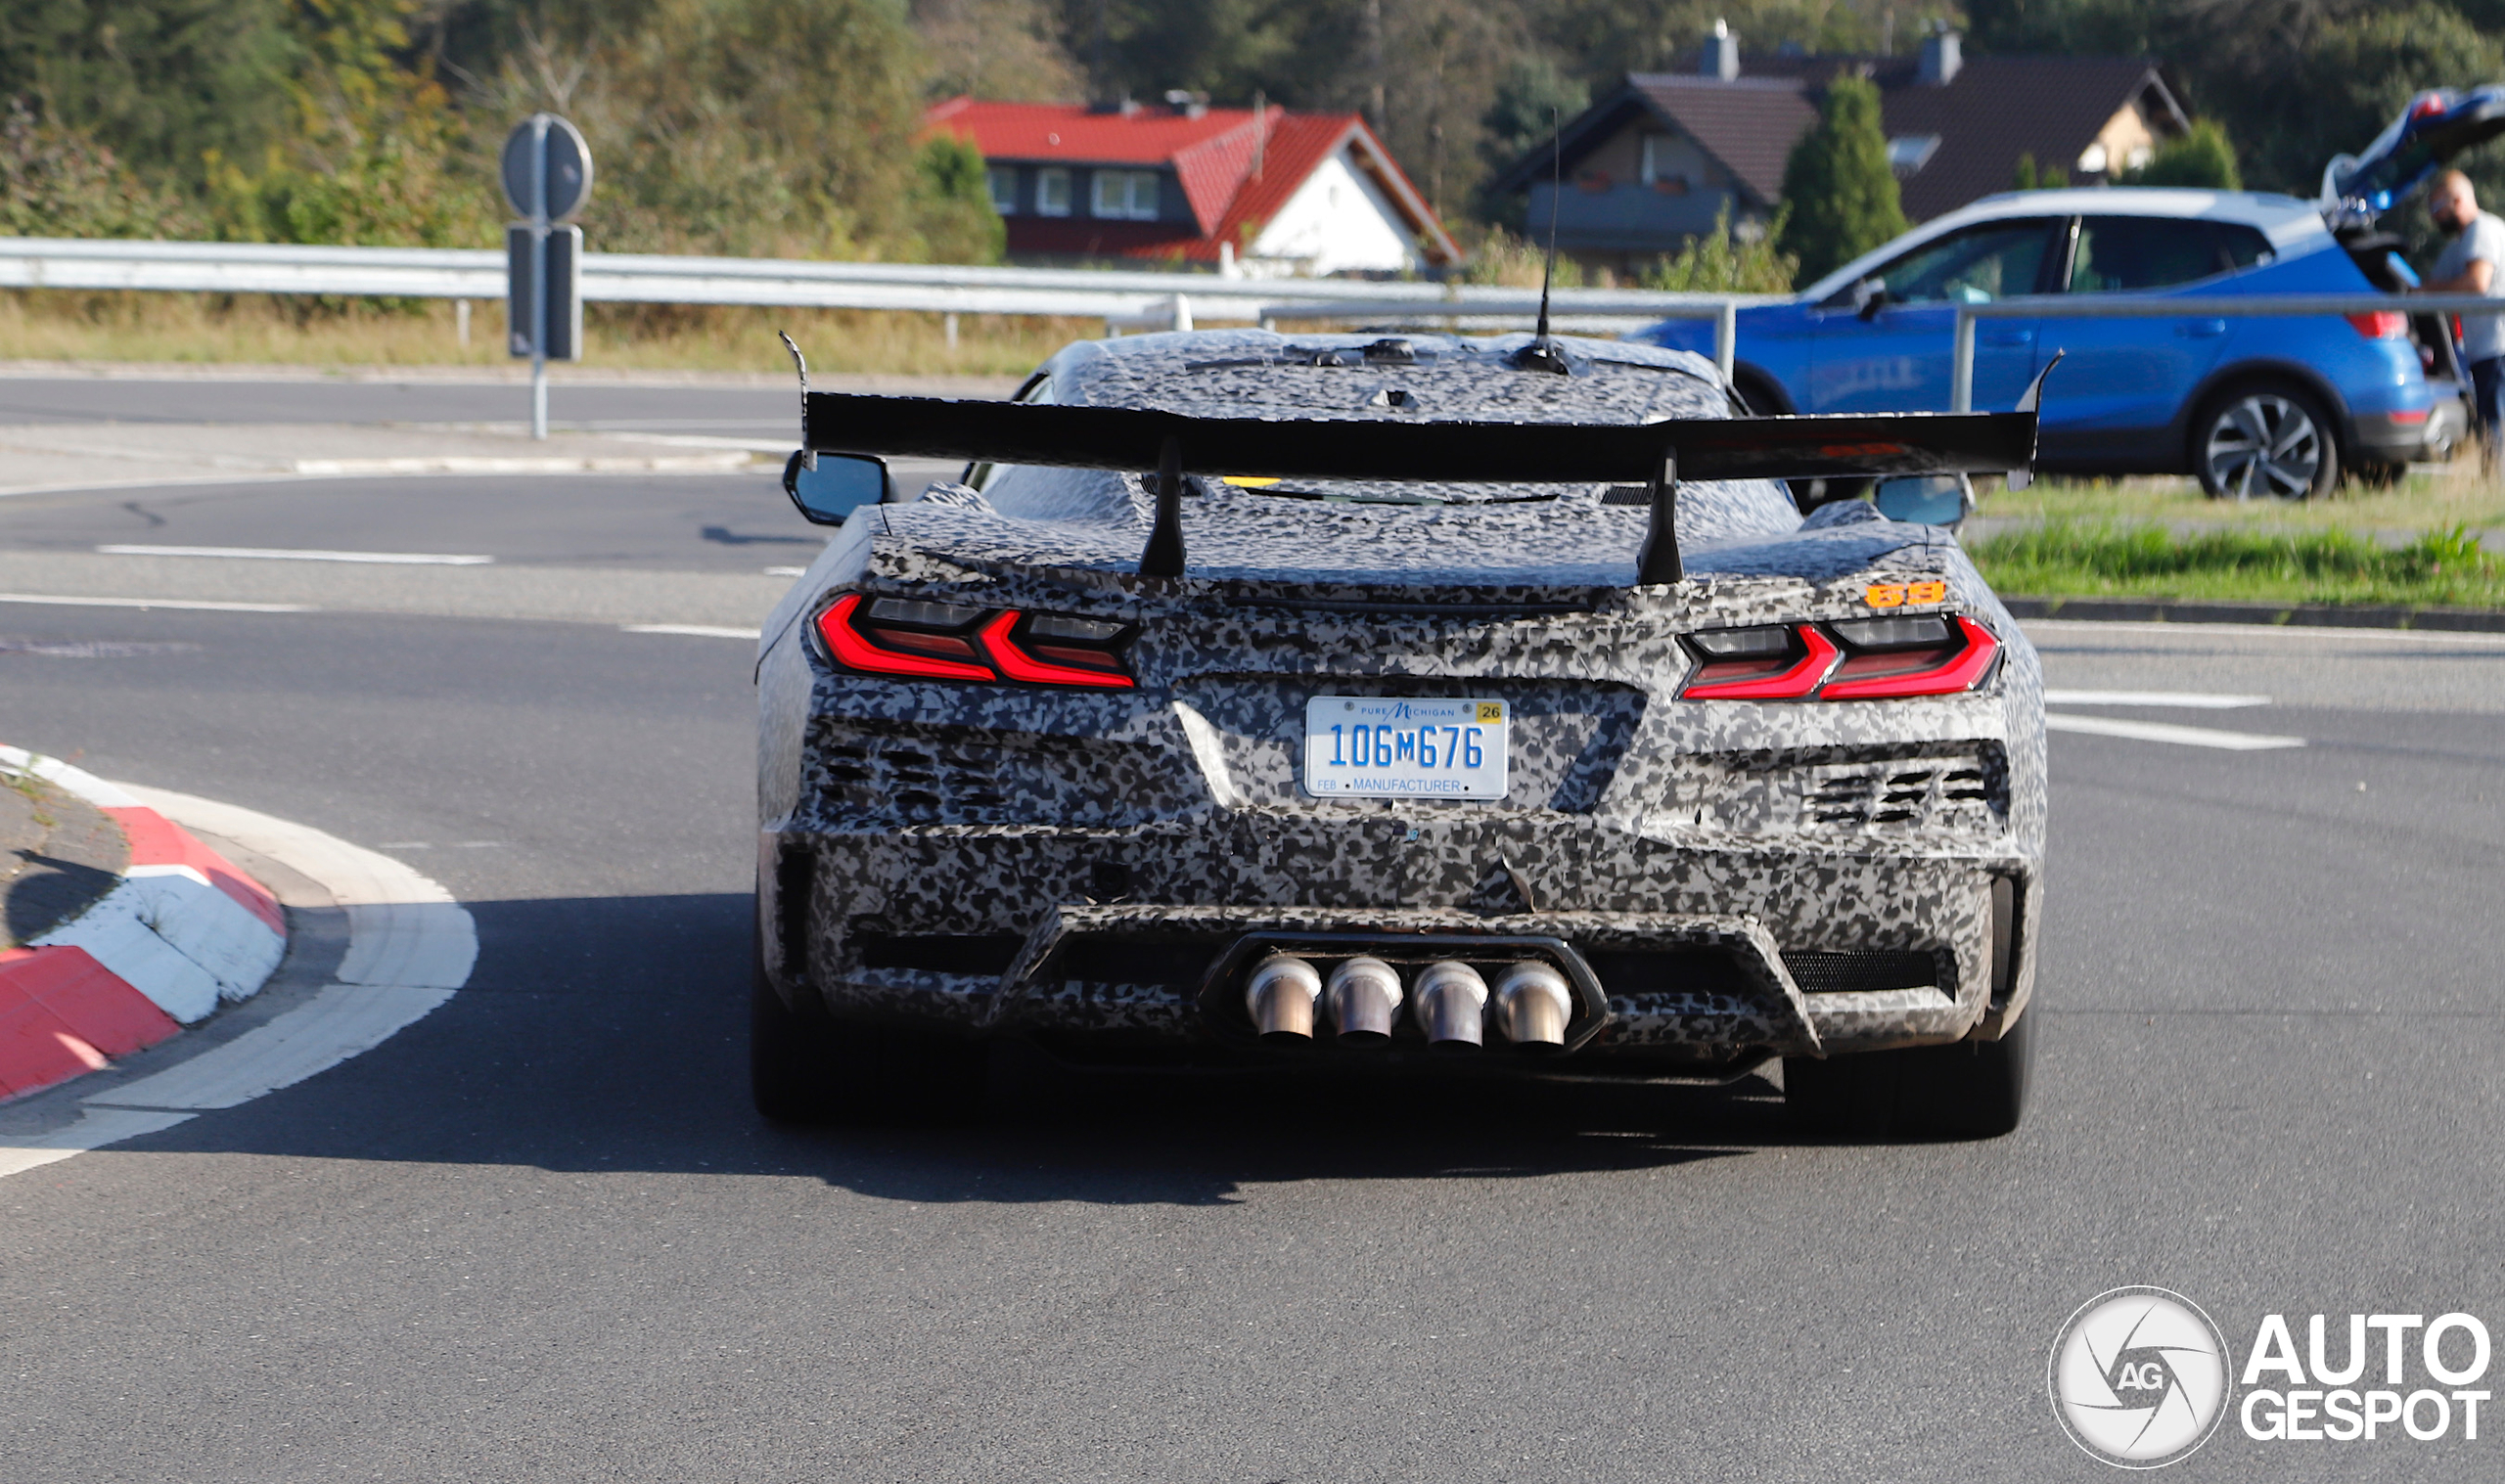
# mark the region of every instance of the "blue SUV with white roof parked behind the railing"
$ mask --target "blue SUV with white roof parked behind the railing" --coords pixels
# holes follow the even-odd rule
[[[1738,313],[1733,388],[1756,413],[1949,408],[1959,303],[2017,295],[2402,293],[2397,240],[2317,203],[2239,190],[1989,195],[1866,253],[1789,303]],[[1713,353],[1708,320],[1636,335]],[[2009,408],[2054,353],[2039,468],[2192,473],[2212,496],[2307,498],[2342,470],[2395,478],[2467,430],[2435,315],[1979,320],[1974,405]]]

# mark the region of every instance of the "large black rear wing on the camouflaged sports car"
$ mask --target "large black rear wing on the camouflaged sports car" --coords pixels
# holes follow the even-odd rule
[[[2047,365],[2047,370],[2052,370]],[[807,383],[802,383],[807,388]],[[1140,576],[1182,576],[1182,475],[1641,483],[1653,521],[1638,583],[1681,578],[1678,480],[2007,473],[2024,485],[2037,393],[2014,413],[1681,418],[1668,423],[1395,423],[1390,418],[1187,418],[1155,408],[1057,408],[802,390],[802,458],[879,453],[1157,473]]]

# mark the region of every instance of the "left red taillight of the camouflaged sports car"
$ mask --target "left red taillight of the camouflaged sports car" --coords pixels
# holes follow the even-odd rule
[[[817,616],[817,633],[834,663],[867,676],[1132,686],[1122,666],[1125,623],[847,593]]]

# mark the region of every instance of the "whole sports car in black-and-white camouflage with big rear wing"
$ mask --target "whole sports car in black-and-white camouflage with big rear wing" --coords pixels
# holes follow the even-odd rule
[[[1242,330],[802,400],[787,488],[842,531],[759,651],[767,1114],[947,1109],[1017,1036],[1781,1059],[1821,1129],[2017,1124],[2037,656],[1949,531],[1776,480],[1954,511],[2027,478],[2034,393],[1748,418],[1648,345]],[[879,455],[969,465],[899,503]]]

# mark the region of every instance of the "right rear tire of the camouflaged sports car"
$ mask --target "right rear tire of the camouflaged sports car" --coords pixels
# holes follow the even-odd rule
[[[1999,1041],[1951,1041],[1851,1056],[1786,1056],[1784,1109],[1841,1139],[1999,1139],[2027,1116],[2034,1016]]]

